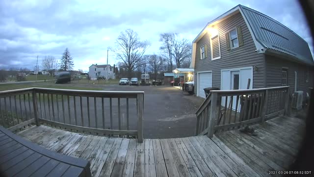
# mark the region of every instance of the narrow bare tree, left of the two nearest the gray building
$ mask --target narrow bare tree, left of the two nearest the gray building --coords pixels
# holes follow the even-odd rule
[[[173,70],[173,41],[175,35],[173,33],[162,33],[159,35],[159,41],[161,42],[161,46],[159,50],[161,55],[167,59],[167,63],[170,66],[170,70]]]

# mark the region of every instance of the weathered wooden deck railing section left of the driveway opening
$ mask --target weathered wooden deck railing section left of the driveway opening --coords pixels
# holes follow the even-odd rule
[[[0,124],[14,131],[43,123],[84,134],[133,136],[142,142],[143,102],[144,91],[0,91]]]

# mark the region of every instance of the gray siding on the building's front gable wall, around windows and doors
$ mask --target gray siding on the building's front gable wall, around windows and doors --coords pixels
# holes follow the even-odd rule
[[[212,86],[220,88],[220,70],[228,68],[239,68],[247,66],[257,66],[258,71],[253,70],[253,88],[264,87],[264,67],[263,54],[255,52],[256,47],[249,29],[247,28],[240,13],[215,25],[218,28],[221,59],[211,60],[209,34],[206,33],[196,43],[195,59],[195,85],[194,92],[197,92],[197,72],[212,71]],[[227,50],[226,33],[241,26],[243,36],[243,46]],[[200,47],[207,45],[207,58],[201,59]]]

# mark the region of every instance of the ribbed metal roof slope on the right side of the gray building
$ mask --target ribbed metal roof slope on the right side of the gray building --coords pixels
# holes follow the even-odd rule
[[[308,43],[298,34],[278,21],[248,8],[239,5],[252,35],[267,50],[282,52],[308,64],[314,64]]]

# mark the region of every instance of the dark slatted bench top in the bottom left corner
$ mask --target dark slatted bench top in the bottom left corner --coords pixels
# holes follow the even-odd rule
[[[0,176],[91,177],[87,160],[42,148],[0,126]]]

